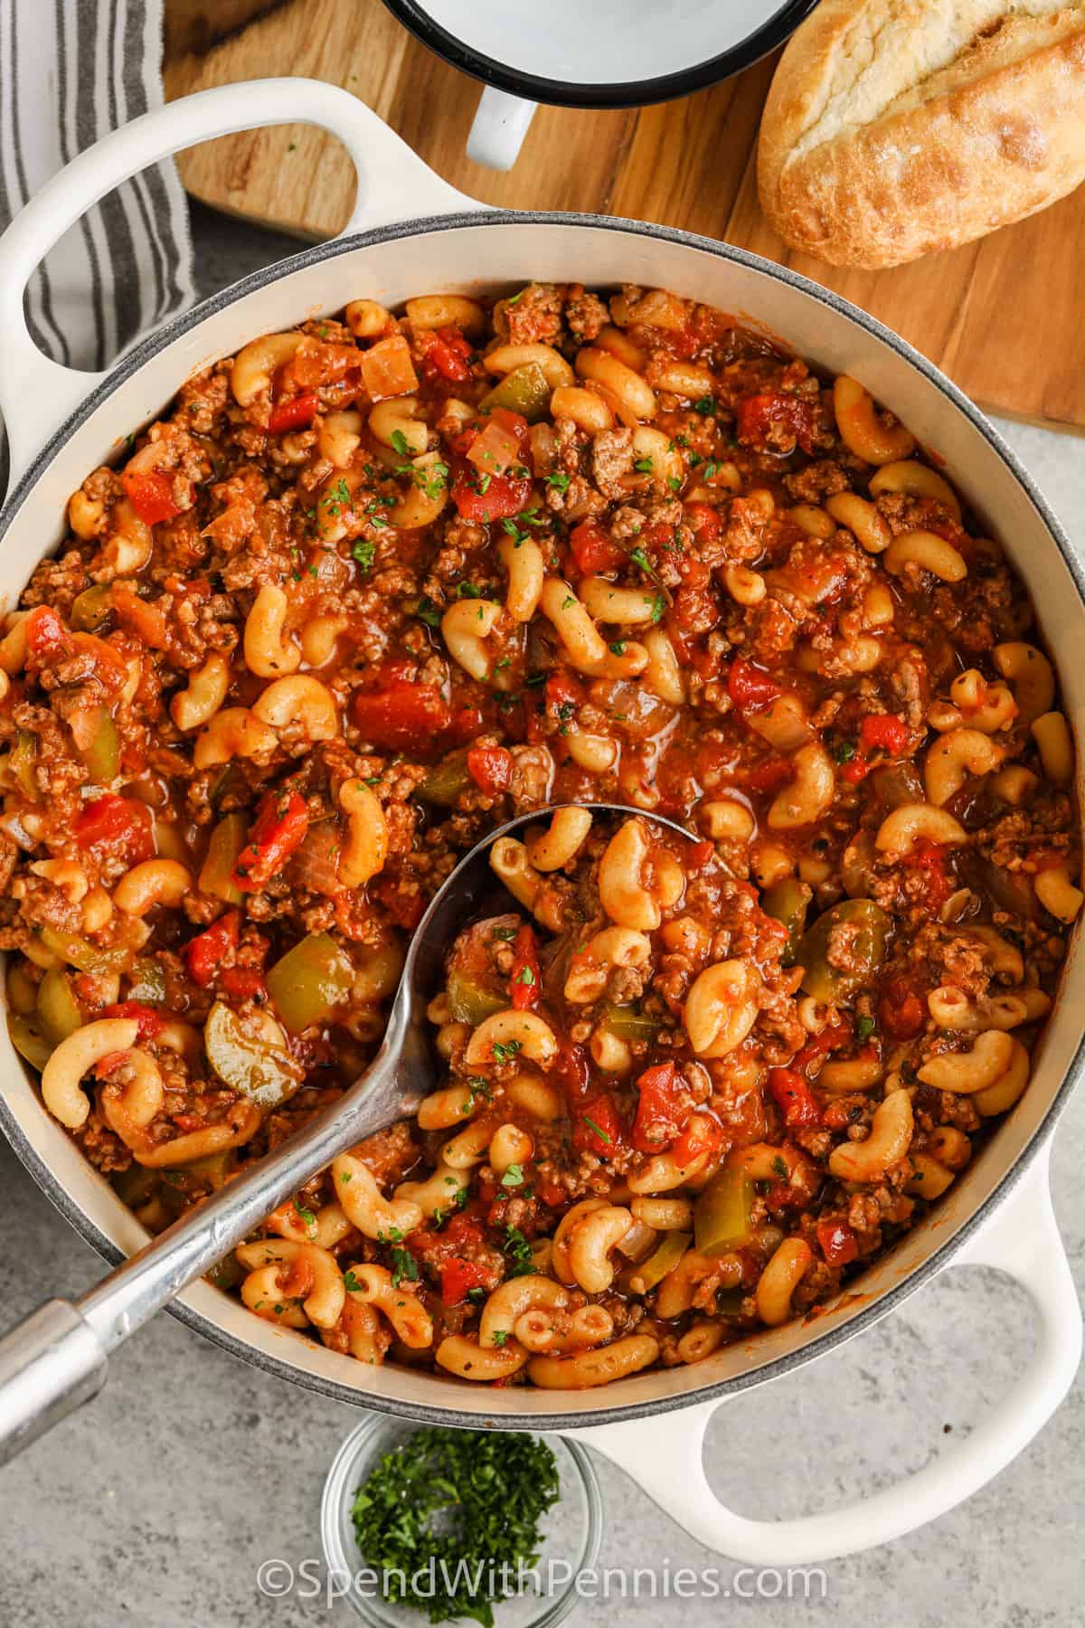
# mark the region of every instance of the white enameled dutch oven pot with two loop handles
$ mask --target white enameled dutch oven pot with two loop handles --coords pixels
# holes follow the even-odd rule
[[[96,199],[158,158],[208,137],[299,120],[340,137],[358,168],[346,231],[226,290],[145,340],[107,374],[44,360],[26,330],[23,291],[34,267]],[[319,174],[314,177],[319,184]],[[0,589],[15,602],[62,536],[65,503],[85,474],[115,456],[129,431],[155,418],[182,379],[273,332],[371,296],[389,306],[415,293],[508,290],[529,278],[662,285],[782,335],[830,371],[857,374],[945,457],[970,505],[987,518],[1025,578],[1059,659],[1078,742],[1085,718],[1082,573],[1065,536],[1013,454],[974,407],[922,357],[862,311],[778,265],[686,233],[584,215],[483,212],[439,181],[355,98],[309,80],[205,91],[145,114],[76,158],[28,205],[0,243],[0,409],[13,488],[0,518]],[[491,1421],[576,1431],[714,1550],[755,1565],[826,1560],[900,1537],[968,1498],[1051,1416],[1077,1369],[1082,1320],[1048,1192],[1049,1136],[1082,1061],[1085,969],[1067,965],[1062,998],[1033,1081],[1009,1118],[909,1232],[817,1319],[739,1341],[691,1368],[636,1374],[604,1390],[475,1390],[459,1381],[363,1368],[316,1341],[252,1317],[208,1283],[176,1312],[246,1361],[356,1405],[447,1424]],[[73,1226],[109,1260],[145,1232],[41,1107],[29,1076],[0,1039],[0,1122],[16,1153]],[[1033,1358],[992,1415],[937,1459],[862,1503],[797,1521],[748,1521],[724,1508],[704,1477],[701,1444],[712,1411],[750,1385],[812,1361],[870,1327],[948,1267],[999,1267],[1038,1312]],[[682,1410],[680,1415],[677,1410]],[[675,1413],[673,1420],[662,1415]]]

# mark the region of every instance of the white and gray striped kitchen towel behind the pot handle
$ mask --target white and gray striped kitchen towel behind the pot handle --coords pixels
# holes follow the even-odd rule
[[[70,158],[158,107],[161,0],[0,0],[0,230]],[[125,182],[68,231],[29,288],[55,361],[104,368],[195,300],[172,163]]]

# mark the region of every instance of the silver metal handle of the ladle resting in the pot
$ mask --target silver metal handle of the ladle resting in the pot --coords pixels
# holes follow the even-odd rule
[[[0,1338],[0,1464],[98,1395],[109,1353],[254,1232],[311,1175],[405,1112],[397,1081],[402,1029],[403,1017],[394,1009],[387,1039],[355,1102],[332,1102],[75,1304],[46,1301]]]

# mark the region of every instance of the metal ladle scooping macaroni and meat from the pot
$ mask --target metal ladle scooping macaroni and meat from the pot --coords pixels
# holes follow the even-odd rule
[[[594,814],[636,812],[680,837],[660,814],[589,803]],[[407,1118],[441,1081],[426,1006],[457,933],[501,894],[490,848],[558,806],[521,814],[490,832],[438,889],[407,951],[384,1040],[364,1074],[285,1143],[195,1205],[78,1301],[50,1299],[0,1340],[0,1464],[44,1436],[106,1382],[109,1353],[148,1317],[254,1232],[278,1205],[346,1148]]]

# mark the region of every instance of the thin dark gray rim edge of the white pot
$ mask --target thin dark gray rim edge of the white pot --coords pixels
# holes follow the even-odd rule
[[[1038,511],[1046,531],[1049,532],[1052,542],[1056,544],[1062,560],[1074,580],[1077,588],[1078,601],[1085,607],[1085,571],[1082,570],[1078,560],[1075,558],[1069,537],[1052,514],[1044,497],[1039,493],[1033,484],[1028,472],[1023,469],[1013,451],[1004,443],[997,430],[987,422],[987,418],[968,400],[968,397],[947,379],[930,361],[919,355],[911,345],[901,340],[896,334],[887,329],[882,322],[869,316],[867,313],[841,300],[838,295],[808,282],[799,274],[776,265],[773,262],[763,260],[758,256],[748,254],[742,249],[735,249],[729,244],[721,244],[708,238],[701,238],[695,233],[685,233],[670,226],[654,226],[639,221],[599,217],[599,215],[566,215],[556,212],[460,212],[439,217],[423,217],[418,220],[399,221],[395,225],[379,226],[371,231],[355,233],[350,236],[337,238],[329,243],[319,244],[316,247],[303,249],[299,254],[291,256],[288,260],[277,262],[270,267],[264,267],[252,272],[241,282],[231,285],[210,300],[200,303],[194,309],[176,316],[166,322],[155,334],[148,335],[142,344],[138,344],[111,373],[98,383],[81,402],[81,405],[70,414],[70,417],[57,428],[57,431],[49,438],[46,446],[31,459],[23,477],[16,482],[13,492],[0,511],[0,540],[7,532],[16,511],[28,500],[34,485],[49,467],[52,457],[65,444],[65,441],[80,428],[80,425],[94,412],[107,397],[132,374],[156,357],[163,348],[166,348],[181,334],[189,332],[200,326],[207,317],[216,311],[233,304],[234,301],[251,295],[264,287],[268,287],[280,278],[290,275],[306,265],[317,264],[320,260],[333,260],[338,256],[348,254],[356,249],[364,249],[377,243],[403,241],[408,243],[416,234],[433,234],[441,231],[451,231],[459,228],[472,228],[485,233],[491,226],[514,223],[517,230],[529,231],[532,225],[545,226],[561,226],[569,233],[576,233],[582,228],[605,230],[615,233],[617,236],[633,234],[633,236],[649,236],[662,239],[665,243],[673,243],[680,247],[693,247],[706,251],[724,260],[737,262],[750,270],[760,272],[768,277],[774,277],[782,283],[794,287],[795,290],[810,295],[818,300],[823,306],[833,311],[838,317],[865,330],[874,339],[888,345],[898,353],[904,361],[919,371],[926,381],[934,386],[942,396],[945,396],[958,412],[965,414],[973,428],[976,428],[981,436],[989,443],[994,453],[1009,467],[1018,485],[1026,493],[1028,500]],[[571,265],[576,265],[576,254],[569,254]],[[649,1415],[667,1413],[678,1408],[690,1408],[698,1403],[709,1403],[722,1397],[737,1395],[743,1390],[760,1385],[781,1374],[792,1372],[805,1363],[813,1361],[818,1356],[826,1354],[836,1346],[851,1340],[854,1335],[862,1333],[865,1328],[872,1327],[882,1317],[888,1315],[898,1306],[901,1306],[911,1294],[929,1283],[955,1255],[958,1255],[965,1245],[979,1232],[979,1229],[991,1219],[994,1211],[1009,1198],[1017,1184],[1022,1180],[1025,1172],[1030,1169],[1036,1156],[1041,1153],[1044,1143],[1048,1141],[1051,1130],[1064,1110],[1069,1094],[1082,1073],[1085,1063],[1085,1037],[1078,1040],[1074,1052],[1072,1061],[1067,1066],[1064,1078],[1052,1094],[1052,1099],[1036,1125],[1030,1141],[1020,1151],[1013,1164],[991,1190],[991,1193],[976,1206],[976,1210],[965,1219],[952,1237],[945,1242],[934,1244],[927,1257],[917,1263],[900,1283],[891,1288],[882,1289],[878,1296],[865,1307],[856,1311],[844,1324],[826,1328],[825,1333],[813,1335],[802,1348],[791,1351],[784,1356],[774,1358],[761,1366],[752,1368],[750,1371],[704,1384],[703,1387],[691,1390],[685,1395],[665,1395],[638,1403],[610,1403],[592,1407],[587,1410],[577,1410],[571,1413],[547,1413],[545,1421],[537,1413],[509,1413],[493,1418],[493,1424],[503,1429],[540,1429],[545,1423],[545,1429],[582,1429],[586,1426],[620,1423],[623,1420],[638,1420]],[[122,1252],[112,1244],[112,1241],[78,1208],[72,1195],[65,1187],[60,1185],[59,1179],[54,1175],[50,1167],[23,1135],[20,1125],[16,1123],[10,1107],[7,1105],[3,1096],[0,1096],[0,1128],[5,1130],[8,1140],[11,1141],[21,1162],[31,1172],[37,1185],[46,1192],[52,1203],[60,1210],[60,1213],[72,1223],[76,1232],[80,1232],[93,1247],[111,1263],[122,1260]],[[333,1397],[340,1402],[348,1402],[351,1407],[369,1407],[381,1413],[397,1415],[400,1418],[429,1421],[429,1423],[477,1423],[480,1418],[486,1416],[485,1398],[478,1397],[475,1392],[462,1394],[462,1407],[447,1407],[442,1402],[405,1402],[400,1398],[366,1395],[355,1387],[338,1384],[320,1374],[307,1372],[296,1368],[290,1361],[270,1356],[249,1345],[246,1340],[228,1333],[220,1328],[215,1322],[207,1319],[203,1314],[194,1311],[185,1304],[174,1302],[169,1311],[179,1317],[184,1324],[195,1328],[205,1338],[211,1340],[215,1345],[239,1356],[242,1361],[252,1363],[257,1368],[277,1374],[278,1377],[290,1379],[304,1389],[316,1390],[320,1395]],[[457,1394],[459,1395],[459,1394]]]

